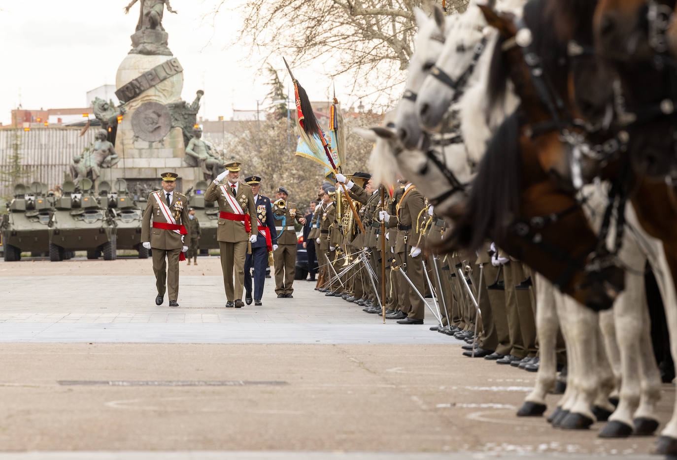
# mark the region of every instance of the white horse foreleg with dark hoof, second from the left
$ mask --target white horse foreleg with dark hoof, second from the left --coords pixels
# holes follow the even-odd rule
[[[569,321],[572,323],[570,345],[571,354],[576,358],[574,382],[576,397],[571,404],[569,414],[561,421],[560,427],[565,430],[584,430],[594,423],[595,416],[590,410],[598,389],[596,373],[598,315],[573,298],[565,298],[569,306]],[[568,383],[567,383],[568,386]],[[567,409],[564,407],[563,409]]]

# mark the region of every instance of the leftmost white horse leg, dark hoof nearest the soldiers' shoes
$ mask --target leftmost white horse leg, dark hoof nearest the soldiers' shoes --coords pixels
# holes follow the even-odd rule
[[[536,272],[534,272],[536,273]],[[536,328],[540,348],[540,365],[536,374],[536,385],[517,415],[539,416],[546,411],[546,394],[554,388],[557,378],[556,340],[559,329],[554,286],[548,279],[536,273]]]

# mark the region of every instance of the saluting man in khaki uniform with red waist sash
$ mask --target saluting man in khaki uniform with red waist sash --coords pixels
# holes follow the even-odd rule
[[[251,187],[238,181],[240,162],[227,162],[225,171],[212,181],[204,193],[204,201],[218,202],[219,229],[217,241],[221,252],[221,271],[227,302],[225,306],[242,308],[244,290],[244,259],[249,243],[257,241],[259,233],[256,205]],[[223,185],[221,181],[227,178]]]

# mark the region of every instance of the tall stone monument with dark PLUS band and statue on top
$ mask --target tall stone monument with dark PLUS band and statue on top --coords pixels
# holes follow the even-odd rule
[[[127,179],[130,187],[157,189],[167,170],[179,175],[179,190],[203,178],[202,168],[185,162],[185,147],[200,109],[203,91],[193,103],[181,99],[183,67],[168,46],[162,14],[169,0],[132,0],[125,13],[139,3],[139,22],[131,36],[132,49],[115,78],[118,107],[95,99],[94,114],[114,141],[119,160],[98,171],[102,180]]]

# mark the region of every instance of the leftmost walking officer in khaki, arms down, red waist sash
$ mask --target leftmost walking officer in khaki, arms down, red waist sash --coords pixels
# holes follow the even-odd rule
[[[185,244],[190,242],[190,225],[185,228],[189,221],[188,198],[174,191],[179,175],[162,172],[160,177],[162,190],[148,196],[141,242],[144,248],[153,250],[153,272],[158,288],[155,304],[162,305],[165,290],[169,289],[169,306],[179,306],[179,259],[185,260],[183,252],[188,250]]]

